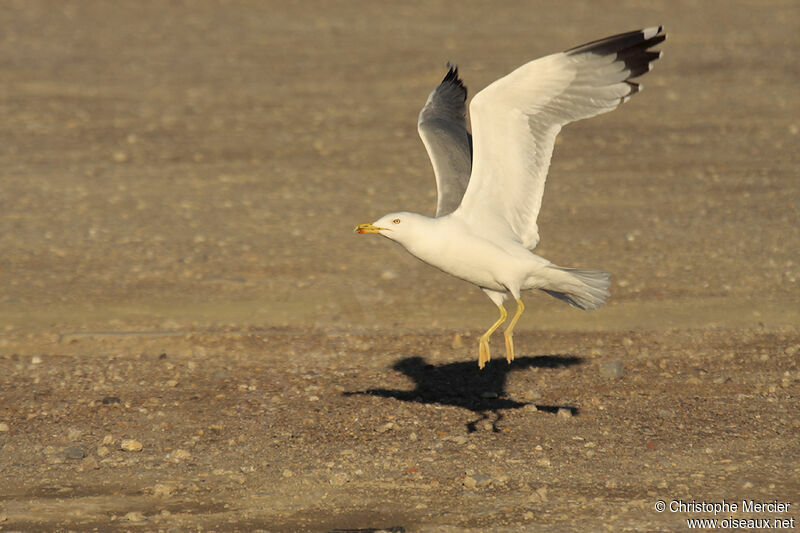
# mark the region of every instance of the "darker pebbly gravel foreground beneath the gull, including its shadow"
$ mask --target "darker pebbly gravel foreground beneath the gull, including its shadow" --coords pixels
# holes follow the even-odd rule
[[[7,356],[9,527],[680,531],[705,515],[655,502],[796,501],[795,331],[525,333],[548,351],[483,372],[453,340],[87,334]]]

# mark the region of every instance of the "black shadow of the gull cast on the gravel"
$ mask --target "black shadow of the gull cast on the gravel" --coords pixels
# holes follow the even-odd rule
[[[432,365],[424,357],[414,356],[398,360],[392,369],[414,380],[415,387],[410,390],[367,389],[344,392],[345,396],[357,394],[394,398],[404,402],[423,404],[452,405],[472,411],[480,416],[467,423],[467,431],[473,433],[477,424],[494,415],[492,431],[500,431],[497,424],[502,420],[502,410],[519,409],[528,405],[509,398],[505,387],[511,372],[527,368],[563,368],[583,363],[583,359],[571,355],[538,355],[515,359],[511,364],[505,361],[492,361],[483,370],[474,361]],[[570,405],[536,405],[539,411],[555,414],[567,409],[577,415],[578,408]]]

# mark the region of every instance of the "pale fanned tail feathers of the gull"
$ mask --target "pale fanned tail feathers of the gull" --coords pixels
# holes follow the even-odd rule
[[[548,282],[541,289],[578,309],[597,309],[609,296],[608,272],[586,268],[547,267]]]

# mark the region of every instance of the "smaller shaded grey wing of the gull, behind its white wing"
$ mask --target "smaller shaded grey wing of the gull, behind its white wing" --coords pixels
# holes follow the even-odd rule
[[[442,83],[419,112],[417,130],[436,175],[436,216],[452,213],[461,204],[472,172],[472,135],[467,130],[467,88],[458,68],[448,63]]]

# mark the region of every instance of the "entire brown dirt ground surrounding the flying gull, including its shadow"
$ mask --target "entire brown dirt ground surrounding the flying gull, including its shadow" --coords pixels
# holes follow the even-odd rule
[[[798,527],[795,0],[0,18],[0,530]],[[491,302],[353,226],[433,210],[447,60],[474,94],[654,24],[646,90],[562,132],[539,219],[608,305],[526,295],[479,371]]]

